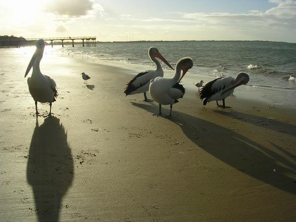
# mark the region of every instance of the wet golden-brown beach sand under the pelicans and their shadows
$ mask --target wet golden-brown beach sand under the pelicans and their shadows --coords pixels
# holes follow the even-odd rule
[[[123,94],[142,70],[44,54],[59,96],[36,118],[32,54],[0,54],[1,221],[296,220],[295,110],[237,96],[203,107],[187,91],[156,117]]]

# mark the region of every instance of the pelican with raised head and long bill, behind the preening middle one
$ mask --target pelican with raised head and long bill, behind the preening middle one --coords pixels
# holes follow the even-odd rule
[[[160,54],[157,48],[151,47],[148,49],[148,55],[152,62],[156,65],[156,70],[147,70],[142,73],[137,74],[132,80],[127,84],[127,87],[124,90],[126,96],[133,95],[137,93],[144,93],[144,101],[150,102],[151,100],[147,99],[146,92],[149,90],[150,80],[158,76],[163,76],[163,70],[159,61],[155,58],[161,59],[168,67],[172,70],[173,67],[168,63],[168,61]]]

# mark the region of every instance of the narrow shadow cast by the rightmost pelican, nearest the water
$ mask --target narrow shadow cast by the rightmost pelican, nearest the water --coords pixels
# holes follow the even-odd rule
[[[215,112],[244,122],[251,123],[255,126],[264,127],[266,129],[274,130],[280,133],[285,133],[291,136],[296,136],[296,126],[280,122],[275,119],[268,119],[265,117],[250,115],[236,111],[215,110]]]

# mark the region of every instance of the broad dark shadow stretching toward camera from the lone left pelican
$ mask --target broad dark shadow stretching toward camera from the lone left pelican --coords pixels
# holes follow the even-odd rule
[[[74,166],[67,133],[56,117],[36,127],[31,140],[27,180],[33,188],[39,222],[59,221],[63,196],[73,181]]]

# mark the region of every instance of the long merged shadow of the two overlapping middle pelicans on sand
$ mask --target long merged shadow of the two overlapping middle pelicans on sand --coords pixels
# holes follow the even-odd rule
[[[157,111],[156,106],[132,104],[151,113]],[[169,121],[178,124],[186,137],[199,148],[255,179],[296,194],[296,163],[290,158],[293,156],[291,153],[285,151],[285,156],[290,155],[287,158],[215,123],[178,111],[174,113]],[[220,135],[219,140],[214,138],[215,135]],[[282,151],[279,147],[275,149]]]

